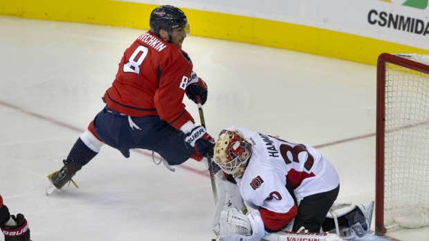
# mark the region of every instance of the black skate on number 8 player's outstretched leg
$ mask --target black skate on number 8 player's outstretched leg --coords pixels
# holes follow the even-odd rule
[[[49,195],[53,192],[53,190],[61,189],[67,182],[73,182],[75,187],[78,189],[79,186],[71,179],[77,171],[79,171],[82,166],[77,164],[76,162],[66,163],[66,160],[63,161],[64,166],[60,169],[60,171],[55,171],[46,177],[48,177],[51,185],[46,189],[46,195]]]

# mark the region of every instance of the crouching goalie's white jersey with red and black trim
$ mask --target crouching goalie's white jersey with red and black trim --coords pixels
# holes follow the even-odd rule
[[[340,184],[331,162],[311,146],[293,144],[238,126],[226,129],[241,131],[252,145],[253,153],[246,171],[243,177],[235,180],[246,204],[253,209],[267,210],[261,215],[268,229],[281,228],[269,225],[276,218],[284,220],[288,213],[291,219],[295,216],[297,207],[286,189],[286,178],[298,202],[303,197],[331,191]]]

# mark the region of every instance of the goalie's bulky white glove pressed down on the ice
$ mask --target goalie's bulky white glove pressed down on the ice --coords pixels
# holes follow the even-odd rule
[[[221,213],[221,241],[259,241],[265,235],[264,222],[258,210],[244,215],[237,209],[227,209]]]

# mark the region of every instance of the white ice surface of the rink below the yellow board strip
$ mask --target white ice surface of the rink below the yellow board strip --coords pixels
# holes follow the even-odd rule
[[[0,193],[11,213],[26,215],[32,240],[215,238],[210,178],[193,160],[173,173],[149,151],[126,159],[103,146],[73,178],[80,189],[46,196],[46,175],[103,108],[124,50],[144,32],[0,17]],[[192,36],[183,50],[208,84],[210,135],[235,124],[309,144],[334,163],[339,202],[374,200],[375,66]],[[197,106],[185,104],[199,123]],[[427,240],[429,229],[389,235]]]

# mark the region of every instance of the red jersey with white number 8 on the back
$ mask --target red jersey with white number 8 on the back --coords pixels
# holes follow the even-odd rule
[[[122,114],[159,115],[180,129],[188,121],[194,123],[182,103],[192,67],[185,51],[148,31],[125,50],[104,99]]]

